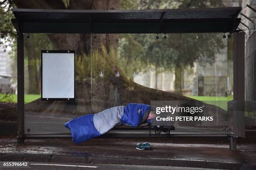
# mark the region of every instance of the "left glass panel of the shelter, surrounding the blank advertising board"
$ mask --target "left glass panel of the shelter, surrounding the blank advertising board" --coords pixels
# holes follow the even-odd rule
[[[25,133],[69,133],[64,123],[84,115],[90,108],[91,101],[88,104],[83,96],[91,96],[91,91],[83,88],[91,86],[91,56],[90,53],[82,56],[78,51],[75,56],[76,101],[41,101],[41,50],[76,50],[67,46],[73,35],[54,34],[55,38],[63,38],[63,44],[59,44],[58,48],[54,47],[47,34],[24,36]]]

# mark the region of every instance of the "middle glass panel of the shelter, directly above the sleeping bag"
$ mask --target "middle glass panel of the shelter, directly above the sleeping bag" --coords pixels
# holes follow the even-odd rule
[[[161,56],[148,50],[154,46],[144,46],[156,35],[108,34],[108,40],[118,37],[115,43],[102,41],[104,36],[92,38],[92,112],[161,97]]]

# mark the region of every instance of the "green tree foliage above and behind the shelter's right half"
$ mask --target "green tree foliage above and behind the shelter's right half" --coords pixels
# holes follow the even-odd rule
[[[223,6],[221,0],[128,0],[121,1],[123,9],[173,9],[173,8],[210,8]],[[148,66],[170,70],[192,67],[195,61],[205,66],[214,62],[224,44],[218,34],[167,34],[159,39],[152,34],[120,34],[119,61],[125,73],[143,71]],[[145,71],[145,70],[144,70]],[[178,80],[179,81],[179,80]]]

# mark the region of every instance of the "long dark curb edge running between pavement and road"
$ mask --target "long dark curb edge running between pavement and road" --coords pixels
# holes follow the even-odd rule
[[[149,157],[113,157],[107,155],[40,155],[40,154],[0,154],[0,161],[68,162],[119,165],[151,165],[174,167],[197,167],[228,170],[255,170],[256,164],[242,162],[217,162],[206,160],[185,160]]]

